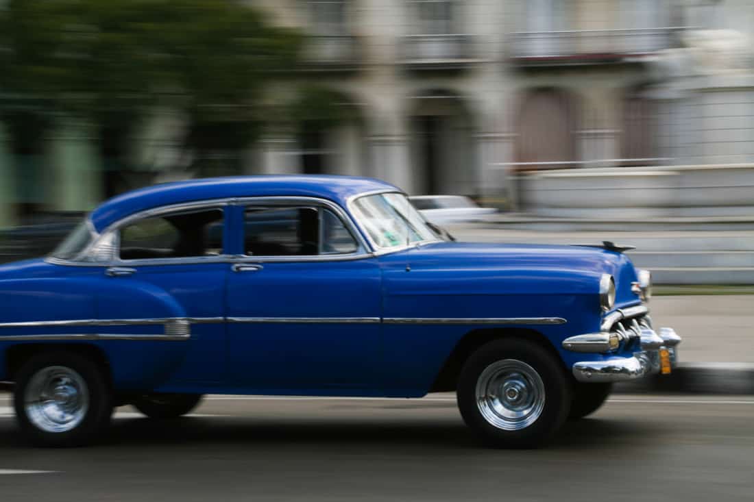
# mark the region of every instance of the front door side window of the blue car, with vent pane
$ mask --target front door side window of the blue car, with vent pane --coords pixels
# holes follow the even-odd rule
[[[248,207],[246,256],[320,256],[356,253],[358,244],[342,220],[323,207]]]

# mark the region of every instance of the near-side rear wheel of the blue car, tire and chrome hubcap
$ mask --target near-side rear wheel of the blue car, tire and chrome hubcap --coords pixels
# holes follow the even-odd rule
[[[17,373],[14,408],[21,432],[36,445],[84,445],[109,424],[112,393],[97,363],[71,352],[48,352]]]

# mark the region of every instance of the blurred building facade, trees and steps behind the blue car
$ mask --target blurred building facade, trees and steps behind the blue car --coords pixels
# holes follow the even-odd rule
[[[0,0],[0,261],[175,179],[374,176],[469,240],[754,284],[749,0]]]

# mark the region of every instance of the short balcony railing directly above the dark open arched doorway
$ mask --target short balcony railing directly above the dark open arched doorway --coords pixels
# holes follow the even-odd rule
[[[408,35],[401,62],[412,69],[459,69],[474,63],[470,35]]]

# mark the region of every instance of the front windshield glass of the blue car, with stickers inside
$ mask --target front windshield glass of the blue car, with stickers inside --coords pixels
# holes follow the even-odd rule
[[[440,234],[403,194],[366,195],[354,200],[354,216],[381,249],[441,240]]]

